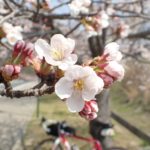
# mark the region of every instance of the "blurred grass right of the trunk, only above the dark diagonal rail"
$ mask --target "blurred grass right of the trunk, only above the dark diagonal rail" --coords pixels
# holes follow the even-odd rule
[[[119,84],[111,90],[111,107],[114,112],[150,135],[150,112],[144,111],[139,103],[127,103],[127,96]]]

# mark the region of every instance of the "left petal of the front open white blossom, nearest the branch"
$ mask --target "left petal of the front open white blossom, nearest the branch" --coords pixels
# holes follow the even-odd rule
[[[65,77],[62,77],[55,84],[55,93],[61,99],[68,98],[72,95],[73,92],[73,82],[68,81]]]

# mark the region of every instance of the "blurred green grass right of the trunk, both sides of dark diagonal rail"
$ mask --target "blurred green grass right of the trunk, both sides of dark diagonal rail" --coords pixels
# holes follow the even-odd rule
[[[150,135],[150,112],[143,111],[142,106],[138,103],[127,103],[127,96],[119,83],[112,87],[110,95],[112,111]],[[137,150],[140,149],[140,147],[148,146],[148,143],[133,135],[117,122],[114,122],[114,124],[116,127],[114,141],[116,143],[128,147],[131,150]],[[141,149],[143,150],[143,148]],[[150,150],[150,147],[148,150]]]

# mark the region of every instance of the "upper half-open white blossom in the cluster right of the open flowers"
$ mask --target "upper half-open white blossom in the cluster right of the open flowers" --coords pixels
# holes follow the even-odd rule
[[[103,57],[105,57],[107,61],[120,61],[122,54],[119,51],[119,45],[115,42],[107,44],[104,48]]]

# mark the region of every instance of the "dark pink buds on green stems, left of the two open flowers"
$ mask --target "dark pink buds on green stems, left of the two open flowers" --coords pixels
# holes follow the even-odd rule
[[[22,67],[27,66],[33,59],[34,46],[31,43],[17,41],[13,47],[12,58],[9,64],[1,69],[1,75],[7,82],[17,79],[21,73]]]

